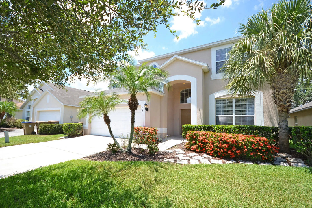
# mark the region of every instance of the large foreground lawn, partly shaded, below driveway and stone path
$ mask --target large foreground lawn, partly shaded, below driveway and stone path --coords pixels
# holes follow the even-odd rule
[[[312,169],[72,160],[0,179],[0,207],[311,207]]]

